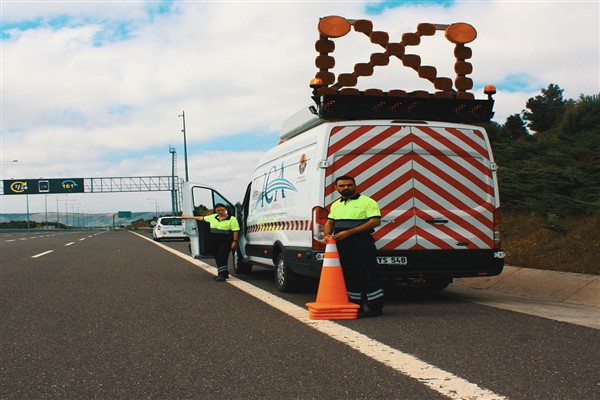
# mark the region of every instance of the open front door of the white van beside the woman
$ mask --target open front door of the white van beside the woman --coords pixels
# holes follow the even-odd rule
[[[229,215],[235,216],[235,206],[215,189],[192,182],[183,183],[183,215],[210,215],[215,212],[215,205],[219,203],[225,205]],[[184,219],[183,230],[190,238],[192,257],[212,256],[208,223]]]

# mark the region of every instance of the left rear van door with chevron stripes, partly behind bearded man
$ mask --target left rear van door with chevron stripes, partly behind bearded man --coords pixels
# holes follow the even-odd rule
[[[325,204],[339,194],[335,178],[350,175],[358,191],[377,201],[382,213],[379,249],[416,246],[412,134],[410,127],[337,126],[331,130],[325,182]]]

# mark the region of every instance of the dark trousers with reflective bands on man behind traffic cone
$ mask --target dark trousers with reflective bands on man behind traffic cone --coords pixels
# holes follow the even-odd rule
[[[369,309],[383,308],[383,284],[377,264],[377,249],[370,233],[359,233],[336,241],[344,271],[348,299]]]

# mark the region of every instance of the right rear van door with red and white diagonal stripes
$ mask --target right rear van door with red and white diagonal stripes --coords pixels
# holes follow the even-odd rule
[[[412,127],[418,249],[492,249],[494,181],[476,129]]]

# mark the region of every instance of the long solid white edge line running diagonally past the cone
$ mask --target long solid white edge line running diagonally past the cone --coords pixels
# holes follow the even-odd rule
[[[173,250],[161,243],[156,243],[151,239],[132,232],[133,234],[157,245],[165,250],[183,258],[184,260],[196,265],[212,275],[216,275],[216,268],[202,261],[191,258],[177,250]],[[450,372],[444,371],[431,364],[421,361],[417,357],[400,350],[394,349],[384,343],[373,340],[362,333],[353,331],[350,328],[339,325],[332,321],[311,320],[308,317],[308,310],[299,307],[293,303],[283,300],[267,291],[244,282],[235,277],[231,277],[228,283],[249,295],[265,302],[269,306],[282,311],[300,322],[325,333],[329,337],[363,353],[367,357],[378,361],[395,371],[400,372],[410,378],[416,379],[428,388],[450,398],[450,399],[478,399],[478,400],[503,400],[505,396],[496,394],[478,385],[462,379]]]

